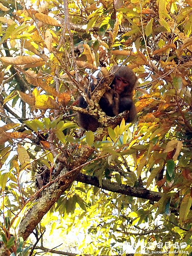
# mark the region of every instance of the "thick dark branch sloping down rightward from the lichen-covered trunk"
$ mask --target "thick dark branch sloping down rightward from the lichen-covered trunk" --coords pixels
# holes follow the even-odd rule
[[[120,193],[123,195],[130,195],[135,196],[137,198],[143,198],[151,201],[159,201],[162,193],[161,192],[154,192],[143,187],[131,187],[123,184],[114,183],[108,180],[102,181],[102,186],[99,186],[99,180],[97,177],[91,177],[82,173],[79,173],[76,176],[76,181],[80,181],[82,183],[90,184],[93,186],[97,186],[99,188]]]

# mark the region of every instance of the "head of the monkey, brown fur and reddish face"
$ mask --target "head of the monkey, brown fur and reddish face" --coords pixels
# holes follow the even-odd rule
[[[123,93],[132,93],[137,82],[137,76],[127,66],[113,66],[112,72],[115,73],[112,85],[115,91],[120,95]]]

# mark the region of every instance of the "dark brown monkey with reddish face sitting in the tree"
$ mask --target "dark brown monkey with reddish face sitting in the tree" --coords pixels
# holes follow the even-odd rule
[[[104,95],[99,100],[99,106],[107,116],[116,116],[125,110],[128,110],[128,119],[126,122],[133,122],[136,119],[136,108],[133,101],[133,90],[137,82],[137,77],[127,66],[114,66],[112,68],[114,79]],[[95,85],[91,84],[91,91]],[[90,98],[90,96],[89,96]],[[87,108],[87,102],[82,96],[79,96],[79,107]],[[79,125],[87,131],[96,131],[99,122],[89,114],[78,113]]]

